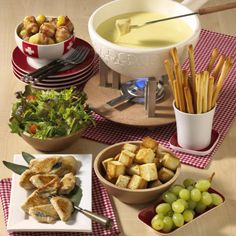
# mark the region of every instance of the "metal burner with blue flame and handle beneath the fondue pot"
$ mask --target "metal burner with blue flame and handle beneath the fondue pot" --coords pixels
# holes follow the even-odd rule
[[[148,78],[138,78],[136,80],[128,81],[121,85],[121,96],[112,99],[107,102],[110,106],[117,106],[127,101],[135,103],[144,103],[145,87],[147,85]],[[156,88],[156,102],[161,100],[165,96],[164,84],[162,81],[157,83]]]

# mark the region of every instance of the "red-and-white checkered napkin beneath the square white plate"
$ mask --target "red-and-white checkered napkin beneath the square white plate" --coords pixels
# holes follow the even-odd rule
[[[9,236],[116,236],[120,231],[115,218],[115,213],[108,193],[101,186],[97,177],[93,173],[93,189],[92,189],[92,209],[93,212],[100,215],[107,216],[113,219],[113,226],[111,229],[104,229],[97,223],[92,223],[92,233],[67,233],[67,232],[12,232],[8,233]],[[11,179],[0,180],[0,199],[2,202],[2,208],[4,213],[5,224],[8,219],[8,208],[10,204],[10,192],[11,192]]]

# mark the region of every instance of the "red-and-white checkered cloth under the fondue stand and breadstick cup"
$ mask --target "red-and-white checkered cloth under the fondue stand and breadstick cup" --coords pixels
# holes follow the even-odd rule
[[[214,117],[213,127],[220,134],[220,139],[213,151],[204,157],[174,151],[182,163],[202,169],[206,168],[209,164],[213,154],[223,142],[227,131],[236,117],[236,37],[202,30],[200,40],[194,51],[196,71],[206,68],[211,52],[216,47],[219,48],[220,54],[232,56],[235,62],[228,78],[224,82]],[[183,67],[189,71],[188,62]],[[148,130],[116,124],[97,114],[94,115],[94,118],[97,126],[89,127],[83,137],[106,144],[127,140],[141,140],[145,136],[150,136],[168,148],[169,139],[176,132],[175,123]]]

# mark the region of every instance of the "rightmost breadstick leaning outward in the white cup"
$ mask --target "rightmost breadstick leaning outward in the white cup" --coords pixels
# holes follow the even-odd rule
[[[222,67],[219,80],[218,80],[218,82],[216,84],[216,88],[215,88],[215,91],[213,93],[213,98],[212,98],[212,106],[213,107],[216,104],[216,100],[217,100],[217,98],[219,96],[221,88],[223,87],[224,80],[226,79],[228,73],[230,72],[230,69],[231,69],[232,65],[233,65],[232,58],[228,57],[226,59],[226,61],[224,62],[224,65]]]

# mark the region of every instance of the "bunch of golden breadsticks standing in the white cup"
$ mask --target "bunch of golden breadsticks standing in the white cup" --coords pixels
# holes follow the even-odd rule
[[[232,65],[232,57],[219,55],[215,48],[210,56],[207,68],[196,72],[193,46],[188,46],[188,59],[191,75],[182,70],[177,49],[170,50],[170,60],[165,60],[165,69],[175,98],[175,106],[182,112],[204,113],[215,107],[217,98],[228,76]],[[219,59],[217,61],[217,58]]]

